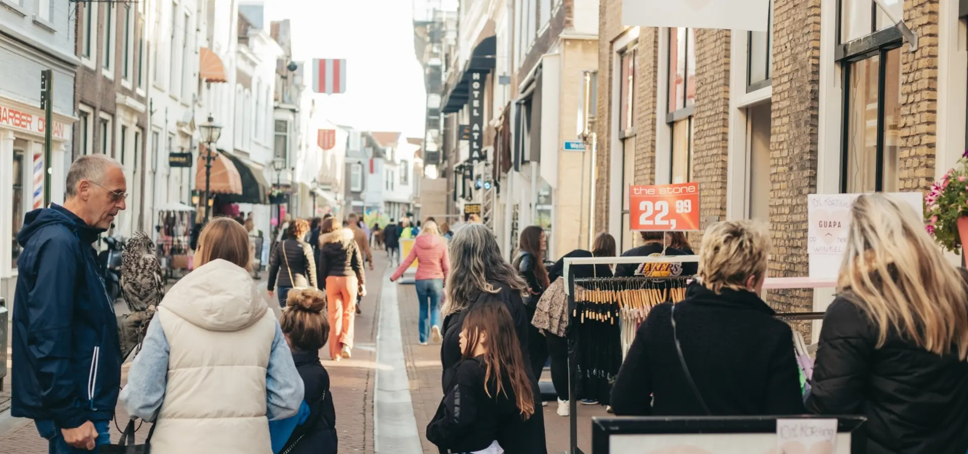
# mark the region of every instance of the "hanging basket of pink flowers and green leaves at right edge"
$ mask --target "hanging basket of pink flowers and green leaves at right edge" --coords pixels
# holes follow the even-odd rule
[[[946,250],[956,253],[968,241],[968,151],[924,197],[927,232]]]

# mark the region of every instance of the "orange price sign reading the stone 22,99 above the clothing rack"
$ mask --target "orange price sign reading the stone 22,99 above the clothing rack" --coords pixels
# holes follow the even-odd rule
[[[632,230],[698,230],[699,183],[629,186]]]

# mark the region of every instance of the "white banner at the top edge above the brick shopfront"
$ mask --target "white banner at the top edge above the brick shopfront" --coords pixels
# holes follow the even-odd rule
[[[621,2],[621,24],[765,32],[770,0],[636,0]]]

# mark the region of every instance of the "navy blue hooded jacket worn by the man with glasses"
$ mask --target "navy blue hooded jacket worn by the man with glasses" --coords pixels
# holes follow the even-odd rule
[[[14,416],[73,429],[114,415],[121,348],[91,246],[103,231],[52,204],[27,213],[16,235]]]

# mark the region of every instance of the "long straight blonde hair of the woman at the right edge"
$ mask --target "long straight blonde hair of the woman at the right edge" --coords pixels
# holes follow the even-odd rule
[[[854,201],[837,290],[877,326],[878,348],[893,331],[932,353],[968,356],[965,283],[906,203]]]

